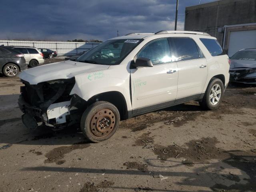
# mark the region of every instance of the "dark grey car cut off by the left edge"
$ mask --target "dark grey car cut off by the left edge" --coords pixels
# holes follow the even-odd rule
[[[7,77],[15,77],[26,70],[24,55],[6,46],[0,46],[0,73]]]

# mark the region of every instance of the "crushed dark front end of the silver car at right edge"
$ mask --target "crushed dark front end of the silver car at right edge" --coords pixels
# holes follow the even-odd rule
[[[256,68],[230,68],[230,82],[256,84]]]

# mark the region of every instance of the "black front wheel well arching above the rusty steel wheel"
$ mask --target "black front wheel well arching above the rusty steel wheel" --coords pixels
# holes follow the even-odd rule
[[[96,101],[107,101],[112,103],[118,109],[121,120],[128,118],[126,100],[122,93],[118,91],[100,93],[91,97],[87,102],[88,105],[90,105]]]

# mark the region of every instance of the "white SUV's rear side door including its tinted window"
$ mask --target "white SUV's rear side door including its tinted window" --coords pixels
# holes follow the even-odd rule
[[[178,66],[178,101],[195,98],[202,93],[208,69],[202,51],[192,38],[170,38]]]

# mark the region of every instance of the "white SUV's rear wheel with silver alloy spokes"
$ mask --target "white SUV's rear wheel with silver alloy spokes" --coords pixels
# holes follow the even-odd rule
[[[224,95],[224,85],[218,78],[212,78],[208,84],[200,106],[205,110],[214,110],[220,106]]]

